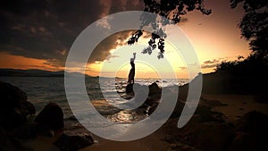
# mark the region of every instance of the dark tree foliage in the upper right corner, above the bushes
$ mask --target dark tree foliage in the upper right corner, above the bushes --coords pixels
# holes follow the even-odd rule
[[[252,51],[267,61],[268,51],[268,1],[267,0],[230,0],[230,7],[238,4],[244,8],[244,17],[239,22],[241,36],[249,41]]]

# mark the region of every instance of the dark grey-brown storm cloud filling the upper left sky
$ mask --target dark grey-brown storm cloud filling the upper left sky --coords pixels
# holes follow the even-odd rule
[[[108,1],[108,0],[107,0]],[[4,0],[0,5],[0,52],[46,59],[50,65],[63,66],[71,44],[80,32],[102,15],[143,10],[142,1],[113,0]],[[107,14],[106,14],[107,13]],[[116,38],[109,37],[96,47],[89,61],[102,61]]]

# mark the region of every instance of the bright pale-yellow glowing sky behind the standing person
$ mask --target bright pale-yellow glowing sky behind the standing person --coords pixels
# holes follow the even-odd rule
[[[121,77],[127,78],[130,71],[130,58],[133,53],[136,55],[136,78],[151,78],[158,79],[159,75],[163,75],[163,79],[173,78],[172,74],[178,79],[188,78],[188,71],[186,71],[185,63],[178,54],[177,49],[171,45],[169,41],[165,41],[165,53],[163,59],[158,59],[158,48],[152,51],[151,55],[142,54],[142,50],[147,47],[149,38],[147,32],[144,36],[138,39],[138,44],[131,46],[117,46],[115,49],[110,50],[109,56],[106,57],[104,62],[88,63],[87,74],[92,74],[95,71],[95,76],[101,77]]]

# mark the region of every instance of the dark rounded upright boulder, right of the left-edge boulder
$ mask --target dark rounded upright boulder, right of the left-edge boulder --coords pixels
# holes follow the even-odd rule
[[[48,127],[54,131],[62,130],[64,128],[63,110],[59,105],[49,103],[38,114],[35,122],[38,122],[40,126]]]

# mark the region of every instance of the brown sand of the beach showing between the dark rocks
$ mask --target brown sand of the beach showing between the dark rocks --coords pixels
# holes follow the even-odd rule
[[[202,99],[199,102],[199,105],[209,105],[212,107],[212,111],[223,113],[224,120],[233,124],[235,124],[235,122],[239,120],[239,118],[241,118],[245,113],[250,111],[257,111],[268,115],[268,105],[256,103],[254,96],[203,95],[201,98]],[[209,103],[207,101],[209,101]],[[219,102],[223,105],[216,105]],[[194,115],[191,121],[196,121],[196,116],[197,115]],[[128,142],[111,141],[92,135],[95,140],[95,144],[89,147],[84,147],[79,151],[167,151],[172,150],[172,148],[173,150],[174,148],[176,150],[176,148],[178,149],[178,143],[172,142],[169,140],[169,138],[177,136],[180,133],[180,130],[176,127],[177,122],[178,118],[172,118],[166,122],[162,128],[156,130],[153,134],[147,136],[146,138],[140,138],[138,140]],[[195,128],[197,124],[198,122],[189,122],[185,126],[185,129],[187,130],[188,127]],[[30,146],[37,151],[57,151],[58,149],[57,147],[54,147],[53,142],[58,136],[59,135],[56,135],[53,138],[38,137],[30,144]],[[180,144],[180,148],[194,150],[185,144]]]

